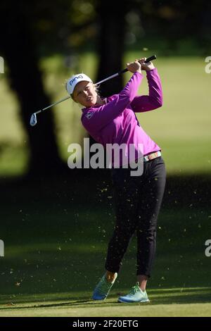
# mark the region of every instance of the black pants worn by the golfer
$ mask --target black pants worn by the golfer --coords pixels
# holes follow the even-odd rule
[[[106,270],[117,273],[130,239],[136,231],[136,275],[151,276],[156,247],[158,213],[165,191],[166,170],[162,156],[143,163],[143,174],[113,168],[116,225],[108,244]]]

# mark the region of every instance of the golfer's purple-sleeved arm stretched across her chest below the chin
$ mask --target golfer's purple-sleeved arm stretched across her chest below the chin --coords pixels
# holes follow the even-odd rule
[[[142,79],[143,75],[141,73],[134,73],[124,89],[119,94],[115,94],[108,104],[97,108],[90,108],[90,118],[84,115],[82,120],[84,127],[89,132],[94,132],[108,125],[108,123],[120,115],[131,104],[137,94]]]

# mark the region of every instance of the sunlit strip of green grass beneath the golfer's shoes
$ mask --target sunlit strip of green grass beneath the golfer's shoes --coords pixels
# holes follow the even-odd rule
[[[42,300],[37,296],[34,301],[32,300],[34,298],[28,298],[27,301],[23,297],[20,303],[13,304],[12,301],[8,301],[6,304],[1,304],[0,316],[211,316],[211,288],[192,288],[184,292],[181,289],[149,290],[148,294],[151,297],[151,302],[148,304],[117,303],[117,293],[111,294],[110,299],[106,301],[92,301],[89,299],[89,293],[86,293],[86,296],[78,293],[80,299],[72,299],[70,293],[60,294],[57,298],[55,298],[56,294],[48,294],[47,299]]]

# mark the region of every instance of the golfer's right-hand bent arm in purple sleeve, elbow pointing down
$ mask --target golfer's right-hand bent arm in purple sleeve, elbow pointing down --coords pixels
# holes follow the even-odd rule
[[[148,80],[149,94],[134,97],[131,106],[135,113],[153,111],[153,109],[162,106],[162,85],[158,70],[155,68],[147,71],[146,77]]]

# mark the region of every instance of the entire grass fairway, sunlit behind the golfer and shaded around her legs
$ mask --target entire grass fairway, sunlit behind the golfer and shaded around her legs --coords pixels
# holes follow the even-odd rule
[[[137,57],[137,52],[128,52],[125,62]],[[83,54],[80,63],[87,75],[95,77],[96,56]],[[63,98],[63,83],[72,75],[63,58],[47,58],[40,65],[52,103]],[[2,182],[0,239],[5,256],[0,258],[0,317],[211,316],[211,257],[205,256],[205,241],[211,239],[210,186],[205,181],[211,164],[211,74],[205,73],[204,59],[199,57],[158,56],[156,66],[164,104],[138,117],[162,148],[168,178],[176,176],[171,177],[173,184],[166,192],[171,204],[162,207],[158,219],[157,255],[148,282],[151,302],[117,303],[117,297],[127,294],[136,282],[135,236],[108,299],[91,301],[104,273],[113,232],[113,194],[104,177],[99,180],[98,175],[81,173],[73,178],[70,173],[62,180],[52,178],[51,183]],[[124,77],[126,82],[129,74]],[[22,175],[29,152],[27,137],[6,75],[0,76],[0,85],[0,176]],[[146,78],[139,92],[147,93]],[[82,143],[86,135],[80,110],[65,101],[52,111],[60,155],[66,162],[68,145]]]

